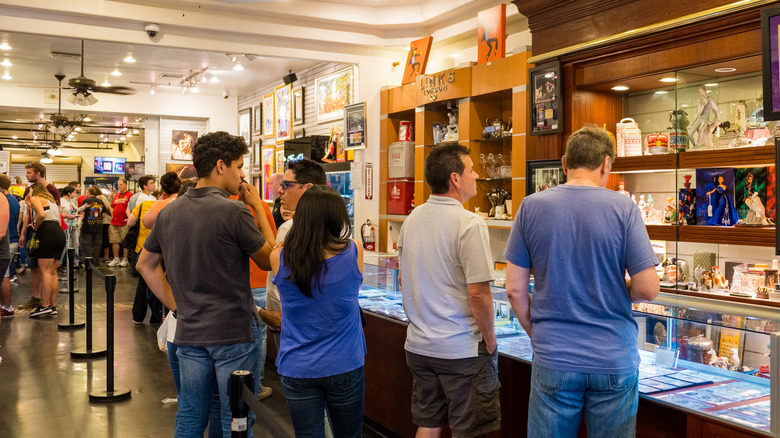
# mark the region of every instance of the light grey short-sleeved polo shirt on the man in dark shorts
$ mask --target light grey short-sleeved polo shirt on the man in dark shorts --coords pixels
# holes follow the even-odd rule
[[[398,238],[407,351],[441,359],[476,357],[482,334],[468,284],[492,279],[485,221],[445,196],[412,211]]]

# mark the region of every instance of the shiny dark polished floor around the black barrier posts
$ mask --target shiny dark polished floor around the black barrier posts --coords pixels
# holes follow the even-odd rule
[[[114,305],[114,388],[129,389],[128,400],[93,403],[91,392],[106,390],[107,361],[74,360],[72,350],[85,349],[85,329],[62,329],[68,322],[70,294],[60,294],[59,315],[29,318],[16,311],[0,324],[0,438],[15,437],[172,437],[176,417],[176,387],[166,353],[157,348],[156,327],[136,326],[130,309],[136,279],[128,268],[107,269],[117,277]],[[110,270],[109,270],[110,269]],[[66,288],[65,283],[61,283]],[[76,321],[85,318],[85,273],[77,271],[73,294]],[[29,271],[13,285],[14,307],[30,297]],[[93,350],[106,345],[106,293],[94,277]],[[148,316],[147,316],[148,321]],[[273,395],[262,401],[293,436],[292,423],[279,378],[266,364],[264,385]],[[255,436],[270,437],[262,424]],[[383,436],[368,427],[363,436]]]

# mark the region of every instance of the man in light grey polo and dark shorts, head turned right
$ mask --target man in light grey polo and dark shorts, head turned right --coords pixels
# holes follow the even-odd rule
[[[398,238],[418,436],[439,436],[447,423],[456,437],[501,427],[492,257],[485,221],[463,208],[477,194],[468,154],[457,144],[431,151],[425,180],[432,195]]]

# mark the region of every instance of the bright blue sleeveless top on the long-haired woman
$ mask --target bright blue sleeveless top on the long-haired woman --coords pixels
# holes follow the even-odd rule
[[[311,298],[287,279],[290,270],[282,254],[279,259],[279,272],[273,278],[282,301],[279,374],[318,378],[363,366],[366,342],[358,304],[363,274],[358,270],[355,242],[325,260],[328,269],[321,288],[312,288]]]

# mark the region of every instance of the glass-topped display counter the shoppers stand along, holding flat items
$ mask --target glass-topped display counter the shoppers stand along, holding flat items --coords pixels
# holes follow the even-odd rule
[[[398,270],[365,265],[363,277],[361,308],[406,322]],[[499,353],[530,363],[530,338],[505,290],[491,289]],[[780,314],[774,307],[671,291],[653,303],[635,304],[634,317],[641,398],[757,435],[780,436],[780,382],[773,377],[780,367]]]

